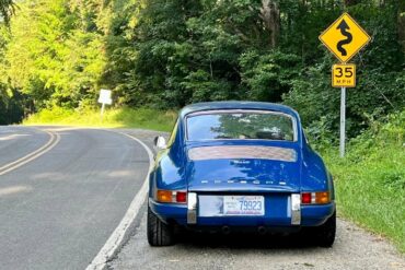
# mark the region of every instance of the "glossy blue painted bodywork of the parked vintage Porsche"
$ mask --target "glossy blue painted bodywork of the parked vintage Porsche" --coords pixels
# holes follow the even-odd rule
[[[270,140],[209,140],[187,141],[185,118],[206,110],[268,110],[291,116],[297,122],[297,141]],[[187,151],[200,146],[258,145],[292,149],[297,161],[282,162],[261,159],[190,161]],[[170,149],[160,151],[150,175],[149,206],[165,222],[186,226],[186,204],[159,203],[157,189],[187,190],[199,195],[259,195],[265,196],[265,216],[198,218],[196,226],[292,226],[287,207],[290,193],[329,191],[332,202],[325,206],[302,206],[301,225],[323,224],[335,211],[331,174],[304,139],[298,113],[288,106],[254,102],[199,103],[183,108]]]

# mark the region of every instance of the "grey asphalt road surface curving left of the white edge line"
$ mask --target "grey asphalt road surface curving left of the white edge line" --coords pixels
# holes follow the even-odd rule
[[[85,269],[143,184],[147,152],[111,131],[10,130],[11,137],[26,133],[31,139],[14,136],[4,140],[7,145],[0,141],[2,153],[10,153],[1,164],[44,145],[49,139],[44,130],[57,133],[60,141],[0,176],[0,269]]]

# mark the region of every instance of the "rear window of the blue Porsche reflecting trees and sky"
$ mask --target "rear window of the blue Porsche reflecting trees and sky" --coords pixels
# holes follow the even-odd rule
[[[267,111],[220,111],[187,117],[187,138],[199,140],[278,140],[294,141],[290,116]]]

